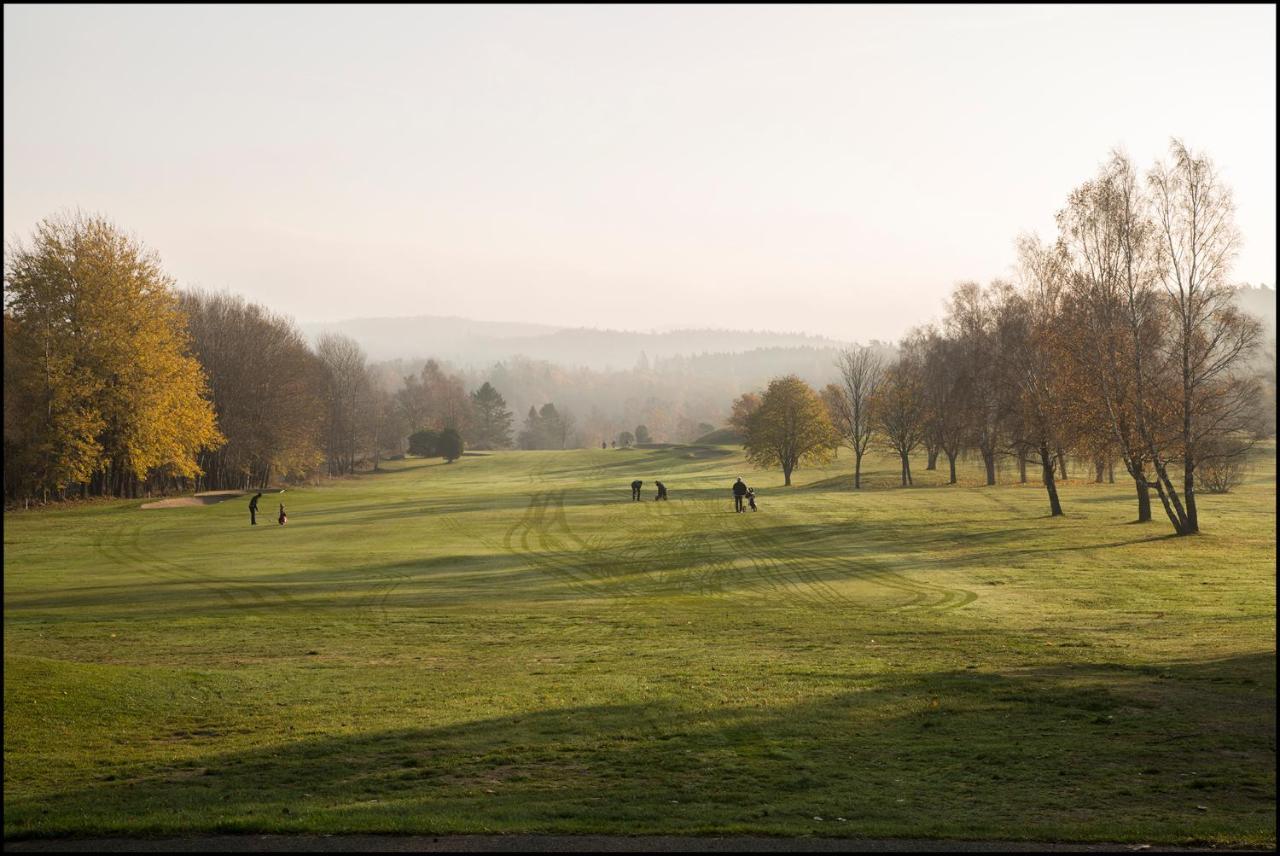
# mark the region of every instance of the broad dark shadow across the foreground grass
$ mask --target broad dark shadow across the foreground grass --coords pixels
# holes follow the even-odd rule
[[[233,714],[210,710],[200,729],[154,723],[188,760],[102,757],[72,788],[6,787],[5,834],[1274,836],[1274,653],[841,677],[786,706],[686,695],[234,751],[219,749]]]

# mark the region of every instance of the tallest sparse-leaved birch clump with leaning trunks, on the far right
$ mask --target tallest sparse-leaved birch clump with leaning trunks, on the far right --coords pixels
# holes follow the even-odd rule
[[[1176,141],[1172,154],[1151,171],[1148,194],[1114,152],[1059,220],[1087,326],[1076,361],[1092,371],[1137,484],[1139,519],[1151,518],[1155,487],[1174,531],[1190,535],[1199,531],[1199,459],[1256,418],[1257,381],[1242,370],[1261,328],[1225,285],[1238,239],[1229,191],[1207,159]]]

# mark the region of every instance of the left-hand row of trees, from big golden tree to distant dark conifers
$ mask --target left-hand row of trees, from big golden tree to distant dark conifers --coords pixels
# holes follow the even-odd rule
[[[422,432],[449,459],[513,443],[492,384],[468,394],[435,361],[388,383],[348,337],[312,347],[241,297],[178,290],[100,216],[50,218],[9,248],[4,357],[8,502],[339,476]],[[571,416],[531,420],[525,448],[566,448]]]

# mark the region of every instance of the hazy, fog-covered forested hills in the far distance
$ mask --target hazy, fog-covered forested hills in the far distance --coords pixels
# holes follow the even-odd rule
[[[1243,285],[1238,305],[1257,316],[1268,343],[1256,357],[1260,371],[1275,361],[1276,293]],[[919,324],[937,321],[922,313]],[[388,393],[435,360],[467,389],[485,381],[517,417],[553,402],[575,420],[575,444],[611,440],[645,425],[654,440],[690,443],[719,429],[737,395],[771,377],[795,374],[820,389],[837,379],[840,351],[865,344],[891,358],[892,342],[840,342],[803,333],[764,330],[668,330],[640,333],[554,328],[445,316],[370,317],[301,324],[351,337],[369,354]],[[1274,386],[1274,370],[1271,371]]]

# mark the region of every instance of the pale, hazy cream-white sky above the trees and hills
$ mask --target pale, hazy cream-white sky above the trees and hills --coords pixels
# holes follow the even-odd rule
[[[1257,6],[4,8],[4,234],[79,207],[300,321],[892,339],[1114,146],[1235,192],[1275,285]]]

